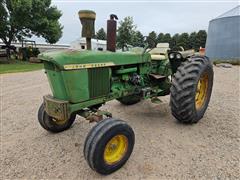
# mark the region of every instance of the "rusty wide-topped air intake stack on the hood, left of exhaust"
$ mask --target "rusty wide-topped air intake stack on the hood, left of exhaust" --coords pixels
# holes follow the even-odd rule
[[[81,10],[78,12],[82,24],[82,37],[86,37],[87,50],[92,49],[91,38],[95,35],[96,13],[91,10]]]

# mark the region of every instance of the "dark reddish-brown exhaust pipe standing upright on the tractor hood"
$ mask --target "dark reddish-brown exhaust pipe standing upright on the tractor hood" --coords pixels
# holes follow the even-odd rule
[[[118,17],[115,14],[110,15],[110,19],[107,21],[107,50],[116,51],[116,33],[117,33],[117,21]]]

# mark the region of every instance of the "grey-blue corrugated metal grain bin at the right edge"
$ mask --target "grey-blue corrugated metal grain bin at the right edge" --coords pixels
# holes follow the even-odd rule
[[[240,6],[210,21],[206,55],[213,60],[240,60]]]

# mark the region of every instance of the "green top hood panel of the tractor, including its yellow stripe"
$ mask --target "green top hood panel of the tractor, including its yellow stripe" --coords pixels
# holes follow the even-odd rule
[[[150,54],[136,52],[79,51],[61,50],[42,53],[38,56],[42,61],[55,64],[61,70],[93,68],[103,66],[119,66],[150,61]]]

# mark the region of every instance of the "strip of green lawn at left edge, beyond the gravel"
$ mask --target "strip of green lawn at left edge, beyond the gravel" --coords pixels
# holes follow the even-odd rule
[[[0,74],[36,71],[43,69],[42,63],[0,59]]]

